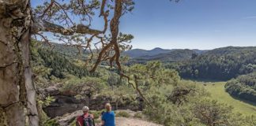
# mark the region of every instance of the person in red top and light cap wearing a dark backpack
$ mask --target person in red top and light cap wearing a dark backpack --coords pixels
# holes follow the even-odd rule
[[[77,126],[95,126],[93,115],[88,113],[88,106],[82,108],[83,115],[77,117]]]

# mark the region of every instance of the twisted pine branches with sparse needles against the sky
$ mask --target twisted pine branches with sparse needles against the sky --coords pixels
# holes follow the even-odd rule
[[[32,33],[43,41],[43,32],[52,32],[59,42],[88,51],[86,61],[95,72],[101,61],[108,61],[122,71],[120,52],[130,49],[133,35],[119,31],[120,18],[134,9],[133,0],[44,0],[33,9]],[[94,29],[96,18],[104,20],[103,29]]]

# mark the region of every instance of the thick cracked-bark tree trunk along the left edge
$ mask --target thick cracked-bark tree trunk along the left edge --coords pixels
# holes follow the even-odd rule
[[[0,0],[0,125],[38,125],[29,65],[29,0]]]

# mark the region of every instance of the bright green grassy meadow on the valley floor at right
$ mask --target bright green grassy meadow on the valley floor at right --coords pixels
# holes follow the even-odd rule
[[[226,82],[214,82],[214,83],[203,83],[198,82],[205,87],[207,91],[210,92],[211,97],[219,102],[224,102],[230,106],[233,106],[235,111],[239,113],[244,113],[246,115],[256,116],[256,106],[255,103],[243,102],[239,99],[232,98],[224,89]]]

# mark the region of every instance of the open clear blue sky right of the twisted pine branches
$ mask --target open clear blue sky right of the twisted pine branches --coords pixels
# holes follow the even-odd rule
[[[256,0],[135,0],[120,31],[134,48],[213,49],[256,46]],[[32,5],[35,3],[32,2]],[[101,23],[101,21],[96,21]]]

